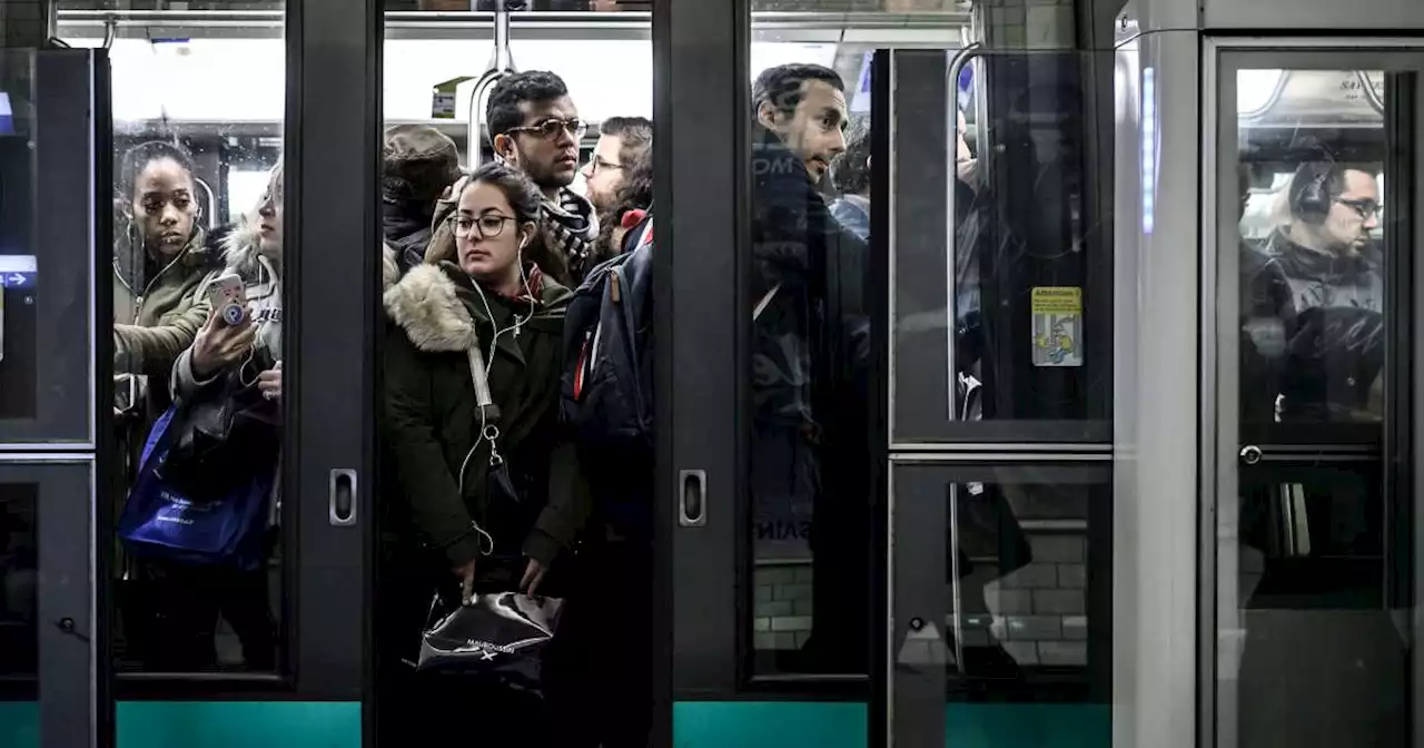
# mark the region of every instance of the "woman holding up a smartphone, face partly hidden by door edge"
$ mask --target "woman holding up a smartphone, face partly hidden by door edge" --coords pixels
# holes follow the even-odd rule
[[[266,423],[266,436],[259,443],[269,446],[261,454],[241,454],[226,463],[231,474],[212,476],[212,483],[221,486],[252,480],[272,486],[261,513],[265,551],[259,559],[235,557],[228,563],[144,563],[147,574],[161,587],[154,603],[158,608],[154,640],[164,647],[161,661],[148,663],[150,670],[216,670],[219,615],[241,641],[244,670],[272,671],[276,667],[268,560],[281,516],[276,445],[282,429],[282,199],[279,165],[256,209],[222,239],[222,269],[204,281],[199,296],[198,308],[205,321],[171,373],[172,399],[178,406],[175,423],[214,403],[228,403],[226,407],[241,412],[248,423]]]

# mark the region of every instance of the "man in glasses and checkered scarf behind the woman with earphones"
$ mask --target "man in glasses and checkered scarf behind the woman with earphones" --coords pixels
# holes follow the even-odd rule
[[[544,70],[500,80],[484,113],[494,154],[524,171],[544,194],[540,235],[528,259],[574,288],[592,268],[598,239],[594,205],[568,188],[578,172],[578,144],[588,125],[558,76]]]

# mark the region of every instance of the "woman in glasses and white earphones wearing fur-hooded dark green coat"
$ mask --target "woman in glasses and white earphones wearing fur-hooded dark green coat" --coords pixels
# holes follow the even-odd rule
[[[399,489],[387,516],[404,520],[397,533],[406,547],[399,564],[406,580],[384,604],[409,621],[404,634],[390,634],[402,645],[417,641],[436,588],[459,586],[466,600],[490,591],[558,594],[558,559],[588,513],[572,443],[558,426],[571,294],[524,256],[537,232],[538,189],[511,165],[486,164],[454,198],[456,261],[420,265],[384,296],[393,322],[384,437]],[[551,567],[555,578],[547,583]],[[440,714],[431,698],[453,695],[436,681],[436,694],[406,690],[419,694],[413,710],[426,715],[414,722]],[[477,734],[487,738],[498,722],[530,745],[540,725],[517,717],[528,714],[525,705],[514,694],[484,694],[480,702],[491,698],[501,705]],[[463,731],[470,701],[459,704],[444,714]]]

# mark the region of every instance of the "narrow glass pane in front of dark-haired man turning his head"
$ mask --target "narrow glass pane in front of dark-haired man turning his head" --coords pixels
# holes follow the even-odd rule
[[[772,10],[772,9],[763,9]],[[792,7],[789,10],[806,10]],[[753,31],[758,20],[753,19]],[[753,675],[867,672],[870,58],[752,46]]]

